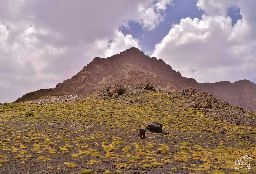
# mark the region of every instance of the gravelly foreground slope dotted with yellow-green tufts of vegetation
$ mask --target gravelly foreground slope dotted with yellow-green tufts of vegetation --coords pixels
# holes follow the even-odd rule
[[[229,173],[241,156],[256,159],[255,127],[224,122],[218,110],[189,107],[191,100],[178,93],[126,89],[116,100],[101,92],[70,102],[0,105],[0,168],[10,173],[15,167],[27,173],[27,166],[35,173],[125,173],[128,168]],[[226,107],[238,113],[236,107]],[[244,119],[256,115],[243,113]],[[147,132],[141,140],[138,127],[153,120],[168,134]],[[250,171],[255,170],[252,166]]]

